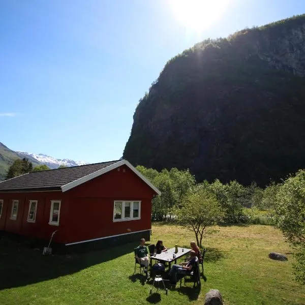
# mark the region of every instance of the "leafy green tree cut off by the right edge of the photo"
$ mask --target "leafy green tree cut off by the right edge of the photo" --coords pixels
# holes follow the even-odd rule
[[[276,220],[296,250],[293,271],[305,284],[305,170],[288,177],[277,193]]]

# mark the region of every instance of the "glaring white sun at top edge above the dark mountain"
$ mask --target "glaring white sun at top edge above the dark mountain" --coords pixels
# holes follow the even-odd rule
[[[169,0],[174,17],[186,27],[204,31],[218,21],[230,0]]]

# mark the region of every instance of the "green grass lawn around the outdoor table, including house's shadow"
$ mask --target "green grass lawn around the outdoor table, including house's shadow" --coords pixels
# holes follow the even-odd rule
[[[293,281],[291,249],[281,232],[271,226],[216,227],[205,238],[206,282],[201,288],[163,290],[149,295],[151,285],[135,274],[133,248],[121,247],[77,254],[42,257],[15,242],[0,241],[0,304],[203,304],[204,294],[219,289],[226,305],[305,304],[305,287]],[[192,232],[164,223],[153,225],[151,241],[167,247],[189,246]],[[273,261],[277,251],[288,262]],[[155,291],[155,290],[154,290]]]

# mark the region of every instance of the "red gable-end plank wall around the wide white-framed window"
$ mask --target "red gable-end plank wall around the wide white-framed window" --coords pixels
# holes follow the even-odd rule
[[[113,169],[66,192],[70,197],[68,242],[149,230],[156,194],[127,166]],[[113,222],[114,200],[141,201],[141,219]]]

